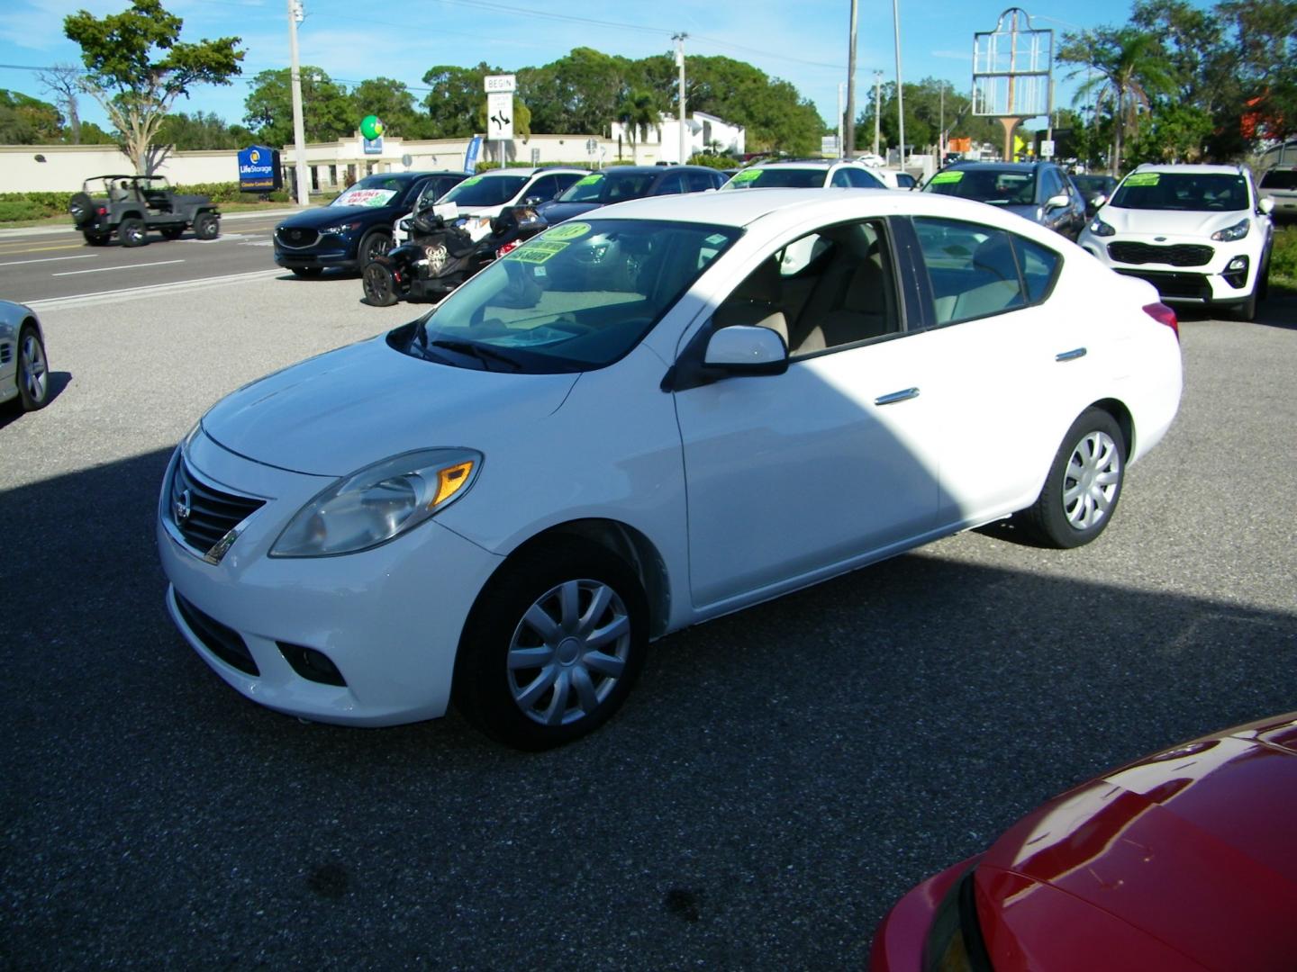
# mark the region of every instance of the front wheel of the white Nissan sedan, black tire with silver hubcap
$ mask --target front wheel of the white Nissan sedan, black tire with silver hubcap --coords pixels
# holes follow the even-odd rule
[[[538,544],[479,595],[455,660],[455,706],[518,749],[563,745],[621,706],[647,644],[648,601],[625,561],[580,538]]]

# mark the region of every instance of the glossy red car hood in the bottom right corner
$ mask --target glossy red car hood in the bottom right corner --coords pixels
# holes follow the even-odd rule
[[[1297,713],[1148,757],[1045,804],[992,845],[978,866],[983,890],[1000,889],[990,924],[1031,938],[1032,896],[1039,907],[1062,892],[1105,912],[1096,928],[1117,918],[1206,968],[1287,967],[1294,805]]]

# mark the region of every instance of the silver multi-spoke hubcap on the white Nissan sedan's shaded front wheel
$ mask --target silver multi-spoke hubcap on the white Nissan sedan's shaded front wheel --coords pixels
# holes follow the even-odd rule
[[[626,605],[599,581],[567,581],[536,599],[508,645],[508,689],[543,726],[576,722],[617,684],[630,653]]]

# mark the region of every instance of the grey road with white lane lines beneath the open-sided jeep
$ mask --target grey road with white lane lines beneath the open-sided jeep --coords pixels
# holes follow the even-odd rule
[[[271,275],[279,268],[270,235],[280,219],[283,214],[230,214],[217,240],[185,233],[167,242],[149,233],[149,244],[136,249],[115,240],[89,246],[70,226],[53,232],[5,231],[0,233],[0,297],[31,303],[232,273]]]

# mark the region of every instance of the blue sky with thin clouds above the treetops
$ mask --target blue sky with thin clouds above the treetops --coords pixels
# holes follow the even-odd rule
[[[900,14],[900,60],[905,82],[931,76],[968,92],[971,86],[973,34],[994,30],[1004,12],[997,3],[896,0]],[[64,38],[62,21],[87,9],[96,17],[126,9],[128,0],[5,0],[0,10],[0,88],[45,101],[30,67],[80,65],[80,48]],[[357,4],[349,0],[303,0],[306,19],[298,29],[301,62],[323,69],[333,80],[355,84],[366,78],[396,78],[416,100],[425,93],[424,73],[434,65],[473,66],[485,61],[503,71],[537,67],[575,47],[639,58],[668,52],[672,35],[687,34],[686,70],[691,54],[747,61],[768,75],[792,83],[811,98],[822,118],[838,111],[839,83],[847,79],[850,0],[743,0],[696,3],[656,0],[652,4],[565,5],[536,0],[425,0],[420,4]],[[1205,4],[1204,4],[1205,5]],[[163,0],[184,19],[183,40],[239,36],[246,51],[244,73],[228,87],[204,86],[174,110],[213,111],[241,123],[252,78],[262,70],[287,67],[288,0]],[[1034,26],[1064,31],[1122,25],[1130,0],[1043,0],[1025,6]],[[892,4],[861,0],[856,41],[857,111],[872,97],[874,71],[896,76]],[[1056,69],[1056,104],[1067,106],[1078,80]],[[82,117],[108,127],[97,105],[84,98]],[[359,124],[359,119],[357,119]]]

